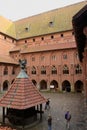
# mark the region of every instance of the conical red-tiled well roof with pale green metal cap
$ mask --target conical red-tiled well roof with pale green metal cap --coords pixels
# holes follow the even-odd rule
[[[7,93],[1,98],[0,106],[27,109],[46,102],[25,72],[17,76]]]

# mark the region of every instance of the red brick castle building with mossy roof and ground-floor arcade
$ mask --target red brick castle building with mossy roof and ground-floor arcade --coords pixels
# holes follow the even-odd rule
[[[84,71],[72,27],[72,17],[84,5],[83,1],[14,22],[0,17],[0,54],[14,60],[0,62],[1,91],[4,81],[9,86],[17,75],[19,59],[26,59],[27,74],[40,90],[84,90]],[[6,66],[7,78],[3,75]]]

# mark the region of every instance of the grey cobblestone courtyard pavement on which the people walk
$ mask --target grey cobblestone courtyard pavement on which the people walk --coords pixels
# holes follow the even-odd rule
[[[86,130],[84,128],[84,96],[81,93],[46,93],[42,95],[51,99],[50,110],[44,110],[42,122],[25,127],[24,130],[48,130],[47,118],[52,115],[52,130],[67,130],[64,114],[70,110],[72,118],[70,130]]]

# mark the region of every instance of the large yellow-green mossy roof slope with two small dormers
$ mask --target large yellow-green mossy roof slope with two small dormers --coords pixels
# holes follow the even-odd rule
[[[72,29],[72,17],[87,2],[79,2],[73,5],[57,8],[45,13],[15,21],[18,39],[57,33]],[[50,22],[53,26],[49,26]],[[28,27],[28,31],[26,30]]]

